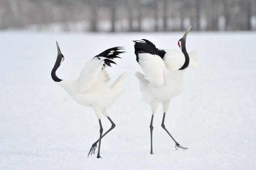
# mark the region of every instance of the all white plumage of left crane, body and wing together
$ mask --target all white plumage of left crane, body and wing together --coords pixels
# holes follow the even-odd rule
[[[75,81],[62,80],[59,84],[79,105],[93,107],[100,119],[99,113],[107,115],[109,108],[123,91],[126,72],[108,86],[109,75],[105,68],[102,69],[104,57],[93,58],[85,64],[80,77]]]

